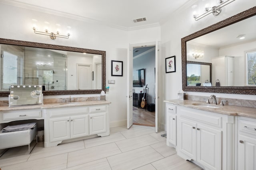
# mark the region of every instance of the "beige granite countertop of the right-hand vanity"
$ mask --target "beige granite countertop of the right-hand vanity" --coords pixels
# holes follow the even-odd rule
[[[215,105],[215,104],[206,104],[206,102],[194,101],[194,100],[164,100],[166,103],[175,104],[179,106],[189,107],[193,109],[200,109],[204,111],[211,111],[214,113],[220,113],[225,115],[232,116],[244,116],[251,117],[256,119],[256,108],[253,107],[242,107],[242,106],[232,106],[232,105]],[[198,105],[194,105],[198,104]],[[207,106],[214,106],[218,108],[210,108]]]

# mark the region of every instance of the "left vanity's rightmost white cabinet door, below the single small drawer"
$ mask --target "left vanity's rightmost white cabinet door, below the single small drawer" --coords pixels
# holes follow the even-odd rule
[[[106,132],[106,113],[90,114],[90,135]]]

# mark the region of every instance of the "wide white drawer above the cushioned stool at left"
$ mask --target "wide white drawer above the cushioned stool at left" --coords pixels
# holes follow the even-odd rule
[[[42,110],[34,110],[34,109],[26,110],[26,111],[4,112],[2,114],[3,114],[3,121],[42,118]]]

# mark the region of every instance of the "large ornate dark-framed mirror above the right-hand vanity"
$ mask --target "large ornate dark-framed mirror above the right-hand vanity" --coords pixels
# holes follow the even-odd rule
[[[256,94],[256,7],[181,39],[186,92]],[[189,84],[190,63],[211,63],[208,86]]]

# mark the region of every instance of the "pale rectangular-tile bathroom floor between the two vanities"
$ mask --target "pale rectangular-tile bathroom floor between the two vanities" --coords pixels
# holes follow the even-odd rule
[[[9,149],[0,158],[2,170],[201,170],[166,146],[165,131],[133,125],[113,127],[107,137],[63,143],[44,148],[38,143]]]

